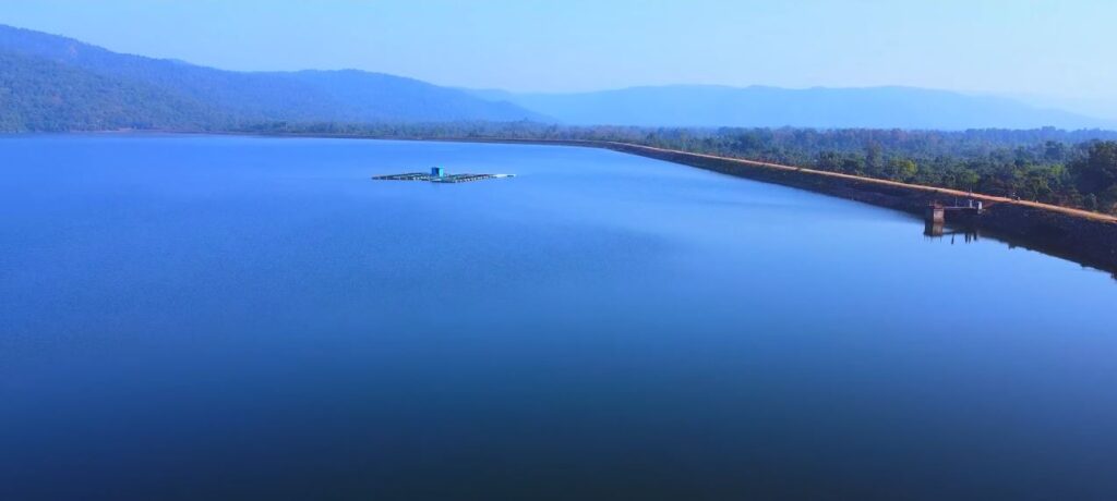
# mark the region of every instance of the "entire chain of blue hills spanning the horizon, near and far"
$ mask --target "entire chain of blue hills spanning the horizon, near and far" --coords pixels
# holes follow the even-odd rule
[[[698,127],[1117,128],[1113,122],[1008,98],[907,87],[680,85],[515,94],[359,70],[228,71],[0,25],[0,131],[524,119]]]

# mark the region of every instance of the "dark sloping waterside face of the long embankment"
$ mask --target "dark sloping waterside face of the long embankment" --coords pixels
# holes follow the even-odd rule
[[[523,139],[495,137],[389,137],[356,134],[303,134],[250,132],[106,131],[101,134],[190,134],[247,137],[304,137],[374,141],[420,141],[445,143],[529,144],[610,150],[660,160],[734,177],[795,187],[813,193],[852,200],[870,205],[923,216],[926,206],[943,199],[966,197],[982,201],[985,210],[974,227],[1010,247],[1023,247],[1083,267],[1106,271],[1117,279],[1117,216],[1012,200],[1003,196],[967,193],[922,184],[901,183],[852,174],[796,167],[771,162],[657,148],[630,143],[588,139]]]

